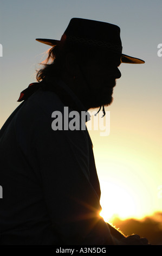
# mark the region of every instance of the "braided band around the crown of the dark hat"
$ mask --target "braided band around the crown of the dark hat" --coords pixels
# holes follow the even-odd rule
[[[122,46],[111,44],[110,42],[99,41],[99,40],[94,40],[94,39],[87,39],[87,38],[80,38],[79,36],[74,36],[74,35],[67,35],[66,40],[69,42],[76,42],[79,44],[110,48],[111,50],[113,50],[115,52],[119,52],[119,53],[122,52]]]

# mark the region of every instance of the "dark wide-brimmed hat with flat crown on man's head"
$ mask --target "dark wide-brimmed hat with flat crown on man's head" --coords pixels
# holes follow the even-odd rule
[[[111,23],[73,18],[70,20],[66,31],[61,40],[55,39],[36,39],[49,46],[61,45],[63,42],[78,44],[80,46],[94,46],[109,52],[121,54],[122,63],[142,64],[144,60],[134,58],[122,53],[120,39],[120,28]]]

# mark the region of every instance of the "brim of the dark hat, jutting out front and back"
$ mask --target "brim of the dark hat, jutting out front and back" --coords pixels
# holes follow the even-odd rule
[[[59,40],[54,40],[54,39],[37,38],[36,41],[42,42],[43,44],[49,45],[51,47],[54,47],[55,45],[58,45],[60,43]],[[126,54],[121,54],[121,63],[143,64],[143,63],[145,63],[145,61],[142,59],[139,59],[139,58],[134,58],[134,57],[128,56]]]

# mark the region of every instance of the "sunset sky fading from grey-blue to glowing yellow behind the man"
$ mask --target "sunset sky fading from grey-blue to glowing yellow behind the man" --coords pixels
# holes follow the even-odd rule
[[[6,0],[0,2],[1,120],[19,105],[20,92],[35,82],[48,46],[60,40],[72,17],[99,20],[121,29],[123,53],[145,64],[121,64],[114,88],[110,133],[89,131],[101,185],[104,217],[141,218],[162,211],[161,0]],[[1,54],[0,54],[1,55]],[[98,109],[96,109],[98,111]],[[104,117],[106,118],[106,117]],[[1,185],[1,181],[0,181]]]

